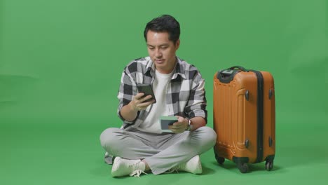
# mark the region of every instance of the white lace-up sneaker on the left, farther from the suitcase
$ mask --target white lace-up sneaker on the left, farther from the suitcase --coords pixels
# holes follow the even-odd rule
[[[129,160],[125,158],[116,157],[111,168],[112,177],[122,177],[126,175],[139,177],[144,173],[146,165],[141,160]]]

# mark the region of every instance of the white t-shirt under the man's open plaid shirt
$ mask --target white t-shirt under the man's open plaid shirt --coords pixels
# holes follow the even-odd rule
[[[155,71],[155,80],[153,81],[153,93],[156,97],[156,103],[153,104],[149,115],[144,120],[144,123],[137,128],[143,132],[161,133],[160,116],[168,115],[168,107],[166,106],[166,91],[167,85],[172,78],[173,71],[170,74],[161,74]],[[151,106],[151,105],[150,105]]]

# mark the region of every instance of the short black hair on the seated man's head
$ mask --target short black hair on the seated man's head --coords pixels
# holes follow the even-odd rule
[[[173,43],[177,43],[180,37],[180,24],[171,15],[162,15],[147,23],[144,29],[144,39],[146,41],[149,30],[152,32],[168,32],[169,40]]]

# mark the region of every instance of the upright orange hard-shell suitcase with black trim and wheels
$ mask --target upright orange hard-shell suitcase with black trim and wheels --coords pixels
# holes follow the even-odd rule
[[[213,88],[213,128],[217,132],[214,155],[219,164],[232,160],[240,172],[247,163],[275,158],[275,90],[266,71],[231,67],[217,71]]]

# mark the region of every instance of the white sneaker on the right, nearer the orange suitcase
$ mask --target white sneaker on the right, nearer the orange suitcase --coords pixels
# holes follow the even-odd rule
[[[177,167],[175,167],[174,170],[190,172],[193,174],[201,174],[203,172],[202,163],[200,163],[200,157],[198,155],[194,156],[186,163],[177,165]]]

